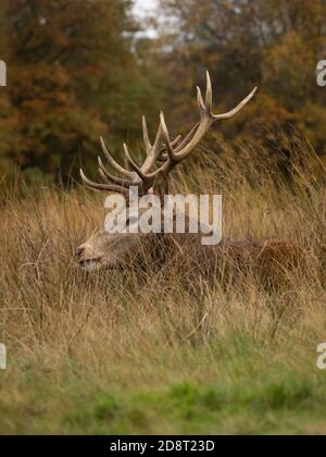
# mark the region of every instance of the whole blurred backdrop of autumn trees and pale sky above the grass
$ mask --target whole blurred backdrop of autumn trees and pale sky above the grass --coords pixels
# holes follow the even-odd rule
[[[260,86],[211,134],[213,153],[263,148],[285,173],[304,141],[324,160],[325,37],[325,0],[2,0],[0,174],[66,184],[82,163],[92,173],[100,136],[141,155],[141,115],[152,135],[161,109],[172,133],[189,127],[206,69],[215,111]]]

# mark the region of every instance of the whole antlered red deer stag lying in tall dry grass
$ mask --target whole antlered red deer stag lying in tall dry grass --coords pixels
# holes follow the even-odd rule
[[[223,114],[213,112],[213,90],[210,73],[206,72],[205,98],[197,86],[197,103],[200,120],[185,136],[171,138],[163,112],[153,143],[149,137],[146,116],[142,116],[143,147],[146,160],[138,165],[131,158],[129,148],[124,144],[124,155],[128,168],[122,166],[110,153],[103,138],[101,146],[108,163],[115,171],[113,174],[98,158],[100,182],[90,181],[83,169],[83,183],[95,190],[114,193],[124,196],[127,201],[130,188],[136,188],[139,197],[158,196],[164,209],[164,196],[168,194],[171,173],[189,158],[200,145],[209,129],[217,121],[229,120],[238,114],[252,100],[258,91],[255,87],[239,104]],[[136,218],[126,221],[128,228],[138,224]],[[129,230],[126,233],[108,233],[99,230],[79,246],[75,260],[86,272],[100,270],[126,270],[129,268],[168,268],[171,262],[185,267],[189,273],[215,275],[222,270],[265,271],[266,279],[281,275],[284,268],[296,268],[302,258],[302,249],[292,243],[280,240],[253,242],[223,239],[216,246],[203,246],[200,233],[191,234],[143,234]],[[280,268],[281,267],[281,268]]]

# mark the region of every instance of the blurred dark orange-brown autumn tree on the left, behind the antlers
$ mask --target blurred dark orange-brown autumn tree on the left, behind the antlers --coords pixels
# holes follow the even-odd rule
[[[131,4],[11,0],[1,10],[9,67],[2,163],[66,176],[77,171],[79,156],[86,168],[93,163],[100,135],[110,134],[113,145],[138,136],[149,97],[134,49]]]

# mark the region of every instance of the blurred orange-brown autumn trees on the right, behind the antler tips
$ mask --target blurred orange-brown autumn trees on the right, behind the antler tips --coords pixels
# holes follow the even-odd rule
[[[209,69],[223,106],[231,106],[252,86],[260,94],[251,119],[274,128],[299,128],[318,152],[326,152],[326,91],[315,69],[325,58],[324,0],[162,0],[171,52],[164,55],[174,87],[178,119],[186,119],[190,81]],[[168,34],[166,34],[168,29]],[[202,81],[203,83],[203,81]],[[246,134],[243,118],[221,126],[225,135]],[[252,132],[247,132],[252,135]]]

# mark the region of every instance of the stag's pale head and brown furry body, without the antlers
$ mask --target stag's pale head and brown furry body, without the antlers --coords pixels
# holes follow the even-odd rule
[[[192,282],[203,277],[228,283],[251,274],[267,286],[285,284],[299,268],[308,270],[308,252],[290,242],[225,239],[215,246],[203,246],[201,242],[201,233],[112,235],[100,232],[80,246],[76,257],[82,265],[87,259],[99,259],[95,267],[103,270],[131,268],[150,274],[179,270]]]

